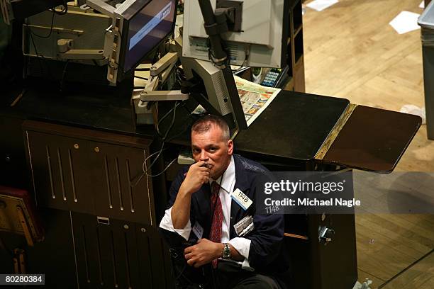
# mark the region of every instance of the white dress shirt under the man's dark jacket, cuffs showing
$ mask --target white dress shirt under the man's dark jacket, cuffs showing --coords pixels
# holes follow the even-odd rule
[[[214,180],[210,178],[209,180],[210,184],[213,181]],[[233,248],[235,248],[238,251],[238,253],[240,253],[241,256],[245,258],[243,262],[239,262],[244,269],[253,270],[253,268],[249,266],[249,261],[248,261],[250,242],[251,242],[250,239],[246,239],[243,237],[235,237],[233,239],[229,239],[230,206],[232,205],[232,198],[230,198],[230,193],[233,192],[233,189],[235,187],[235,163],[233,157],[230,157],[230,164],[228,166],[228,169],[226,169],[226,171],[223,173],[223,179],[221,176],[215,181],[218,184],[220,184],[220,191],[218,193],[218,196],[220,197],[221,207],[223,210],[223,222],[221,225],[221,242],[229,243],[231,246],[233,246]],[[184,227],[184,229],[174,229],[171,212],[172,212],[172,208],[166,210],[165,216],[162,218],[160,222],[160,228],[167,229],[167,231],[170,232],[177,232],[184,239],[188,240],[191,232],[190,219],[187,222],[187,225]],[[202,237],[207,237],[207,236],[202,236]]]

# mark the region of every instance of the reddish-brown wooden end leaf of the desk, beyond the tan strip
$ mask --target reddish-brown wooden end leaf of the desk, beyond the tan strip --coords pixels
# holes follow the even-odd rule
[[[416,115],[357,106],[322,161],[391,172],[420,126]]]

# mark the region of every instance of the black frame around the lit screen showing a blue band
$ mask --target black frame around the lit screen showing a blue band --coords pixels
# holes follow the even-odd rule
[[[143,62],[143,60],[147,59],[152,52],[154,52],[162,43],[164,43],[167,38],[170,37],[174,33],[174,28],[176,26],[177,22],[177,11],[178,11],[178,0],[174,0],[175,2],[175,11],[174,11],[174,19],[172,23],[172,29],[167,35],[165,35],[160,42],[158,42],[155,47],[153,47],[148,53],[143,55],[143,57],[140,57],[140,60],[138,60],[137,65],[134,65],[132,68],[127,70],[126,72],[123,71],[123,66],[125,64],[125,55],[126,55],[126,47],[127,47],[127,37],[128,37],[128,30],[130,26],[130,20],[136,16],[140,11],[142,11],[143,8],[148,6],[151,1],[159,1],[159,0],[148,0],[148,1],[135,1],[131,6],[129,6],[126,11],[132,10],[135,11],[135,13],[131,13],[130,16],[123,18],[123,25],[121,30],[121,47],[119,50],[119,60],[118,60],[118,69],[117,69],[117,80],[121,81],[122,79],[125,79],[128,75],[133,75],[134,69],[140,64],[140,62]],[[172,1],[172,0],[170,0]]]

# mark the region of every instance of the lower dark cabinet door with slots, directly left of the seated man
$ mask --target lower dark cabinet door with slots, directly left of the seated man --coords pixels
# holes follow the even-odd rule
[[[73,212],[79,288],[172,288],[169,249],[149,225]]]

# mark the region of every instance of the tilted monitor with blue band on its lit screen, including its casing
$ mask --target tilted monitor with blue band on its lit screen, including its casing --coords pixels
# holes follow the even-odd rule
[[[177,0],[125,1],[113,12],[113,50],[109,81],[131,74],[174,32]]]

